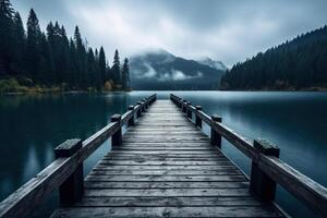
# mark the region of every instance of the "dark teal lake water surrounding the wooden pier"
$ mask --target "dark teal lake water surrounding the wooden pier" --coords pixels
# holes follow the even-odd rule
[[[86,138],[113,113],[154,92],[104,95],[0,96],[0,201],[49,165],[66,138]],[[169,98],[171,92],[158,92]],[[327,93],[173,92],[217,113],[250,140],[265,137],[281,149],[280,159],[327,186]],[[208,126],[204,132],[209,133]],[[85,173],[110,149],[107,141],[85,164]],[[229,143],[222,150],[249,174],[251,162]],[[57,193],[38,208],[43,217],[58,206]],[[278,187],[277,203],[294,217],[314,217]]]

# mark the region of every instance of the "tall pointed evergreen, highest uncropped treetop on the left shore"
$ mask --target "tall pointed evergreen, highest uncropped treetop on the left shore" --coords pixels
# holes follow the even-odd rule
[[[27,72],[32,80],[38,82],[40,75],[38,72],[38,65],[40,61],[40,38],[41,32],[38,24],[37,16],[33,9],[29,11],[27,20],[27,45],[26,45],[26,59],[27,59]]]

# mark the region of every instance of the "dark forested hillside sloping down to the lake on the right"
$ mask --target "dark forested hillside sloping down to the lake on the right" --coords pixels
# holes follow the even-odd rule
[[[237,63],[221,80],[226,89],[327,88],[327,26]]]

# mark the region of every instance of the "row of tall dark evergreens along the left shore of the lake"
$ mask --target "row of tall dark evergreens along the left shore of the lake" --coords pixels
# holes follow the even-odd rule
[[[65,89],[129,89],[129,60],[121,66],[118,50],[112,66],[105,49],[84,43],[78,26],[68,37],[63,25],[50,22],[46,33],[33,9],[26,31],[10,0],[0,0],[0,80],[16,78],[22,85]]]

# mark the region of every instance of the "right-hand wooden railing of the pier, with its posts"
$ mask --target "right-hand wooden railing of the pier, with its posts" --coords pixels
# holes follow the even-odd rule
[[[218,116],[209,117],[203,112],[201,106],[192,106],[190,101],[173,94],[170,95],[170,99],[185,112],[187,118],[192,118],[191,113],[194,113],[196,126],[202,128],[204,121],[211,128],[211,138],[214,138],[211,144],[220,148],[219,141],[223,137],[252,159],[250,190],[259,199],[274,201],[276,183],[278,183],[315,214],[327,217],[327,189],[278,159],[278,147],[266,140],[255,140],[252,143],[222,124]]]

